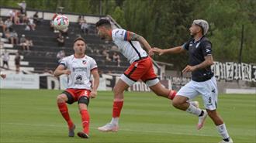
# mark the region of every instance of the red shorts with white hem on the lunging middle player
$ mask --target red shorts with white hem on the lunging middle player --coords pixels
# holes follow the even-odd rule
[[[150,56],[143,60],[133,62],[124,72],[124,75],[126,78],[133,80],[133,82],[142,80],[146,83],[147,80],[157,79],[157,75],[154,73],[153,62]],[[121,77],[121,79],[125,80],[128,85],[131,85],[132,82],[129,82],[126,78]]]

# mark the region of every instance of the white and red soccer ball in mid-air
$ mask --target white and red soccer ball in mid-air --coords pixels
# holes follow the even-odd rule
[[[57,15],[57,17],[54,19],[54,27],[58,30],[67,29],[68,25],[69,25],[69,20],[65,15]]]

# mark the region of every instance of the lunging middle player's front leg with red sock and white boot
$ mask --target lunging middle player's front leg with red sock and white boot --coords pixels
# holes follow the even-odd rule
[[[99,127],[99,131],[118,131],[119,129],[119,117],[123,107],[123,91],[130,87],[127,83],[125,83],[122,79],[119,79],[114,87],[114,101],[112,107],[112,120],[102,126]]]

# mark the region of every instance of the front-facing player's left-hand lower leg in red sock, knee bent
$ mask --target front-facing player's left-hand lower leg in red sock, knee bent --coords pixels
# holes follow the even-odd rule
[[[67,121],[68,129],[69,129],[68,136],[74,137],[75,125],[68,114],[68,109],[66,104],[67,100],[68,98],[66,94],[59,94],[57,96],[57,107],[59,108],[59,111],[61,112],[62,117],[64,117],[65,121]]]

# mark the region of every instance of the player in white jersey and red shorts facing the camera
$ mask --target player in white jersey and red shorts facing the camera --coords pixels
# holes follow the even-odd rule
[[[90,116],[87,111],[89,99],[97,95],[99,87],[99,73],[95,60],[85,55],[85,39],[78,37],[74,40],[74,55],[67,56],[61,60],[60,65],[54,71],[54,76],[67,74],[67,89],[57,96],[57,106],[68,125],[68,136],[74,137],[75,125],[68,114],[67,104],[78,101],[81,114],[83,131],[78,132],[81,138],[89,138]],[[91,75],[94,83],[90,81]],[[66,104],[67,103],[67,104]]]

